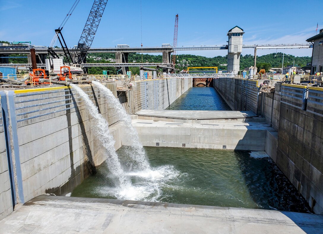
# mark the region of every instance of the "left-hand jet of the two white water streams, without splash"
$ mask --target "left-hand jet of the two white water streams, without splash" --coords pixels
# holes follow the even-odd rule
[[[106,160],[109,170],[112,173],[113,177],[117,178],[117,186],[121,188],[130,186],[130,179],[125,176],[122,167],[120,165],[118,155],[116,153],[116,149],[114,148],[115,141],[113,140],[113,136],[109,131],[108,122],[102,117],[99,113],[98,108],[94,105],[94,103],[90,100],[89,96],[77,85],[70,84],[70,86],[76,90],[80,99],[84,102],[89,114],[93,117],[91,120],[91,124],[94,127],[94,131],[96,133],[97,138],[101,142],[102,146],[106,150],[107,158]]]

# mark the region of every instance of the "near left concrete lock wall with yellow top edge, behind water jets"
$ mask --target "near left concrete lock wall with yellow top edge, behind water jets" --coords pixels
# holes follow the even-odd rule
[[[116,83],[106,85],[116,96]],[[80,87],[110,125],[119,121],[95,86]],[[1,186],[4,191],[0,193],[0,198],[5,201],[1,202],[2,216],[12,212],[13,204],[8,201],[13,196],[10,184],[7,186],[6,141],[12,145],[10,152],[16,157],[16,203],[46,193],[65,195],[106,159],[99,147],[95,126],[91,124],[92,117],[75,90],[52,87],[0,92],[6,95],[10,104],[6,113],[12,125],[9,139],[5,139],[3,127],[0,127],[0,176],[4,177],[1,182],[5,185]],[[110,132],[116,141],[116,149],[120,148],[121,129],[112,126]]]

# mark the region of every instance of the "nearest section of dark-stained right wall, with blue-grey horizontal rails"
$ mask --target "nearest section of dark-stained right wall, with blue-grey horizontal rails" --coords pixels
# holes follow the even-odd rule
[[[301,88],[282,85],[276,164],[313,211],[323,214],[323,88]]]

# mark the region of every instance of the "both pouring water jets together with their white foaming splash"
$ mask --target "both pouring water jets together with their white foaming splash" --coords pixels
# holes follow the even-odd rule
[[[97,191],[98,194],[114,196],[117,199],[158,201],[161,196],[161,186],[166,181],[176,179],[179,172],[170,165],[151,168],[139,141],[138,133],[132,127],[131,118],[123,109],[119,100],[101,83],[97,81],[92,81],[92,83],[102,91],[108,103],[113,106],[118,118],[124,123],[127,139],[131,140],[130,146],[123,147],[120,152],[122,156],[118,157],[114,148],[115,141],[109,132],[108,122],[99,113],[98,108],[89,99],[89,96],[77,85],[70,84],[77,91],[89,114],[93,117],[90,123],[94,127],[97,138],[106,150],[106,163],[111,175],[107,175],[107,181],[102,181],[102,185]],[[129,158],[125,157],[125,155],[129,155],[135,164],[129,164]],[[109,183],[110,180],[113,183]]]

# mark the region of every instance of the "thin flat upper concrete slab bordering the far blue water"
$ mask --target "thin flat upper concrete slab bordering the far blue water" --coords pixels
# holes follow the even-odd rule
[[[161,117],[184,120],[205,119],[245,119],[255,117],[251,111],[172,111],[172,110],[140,110],[138,116]]]

